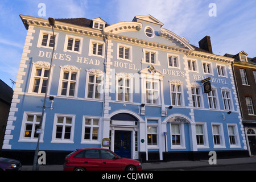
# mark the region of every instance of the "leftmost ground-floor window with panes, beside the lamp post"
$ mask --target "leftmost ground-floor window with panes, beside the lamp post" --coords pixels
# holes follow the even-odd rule
[[[22,127],[20,131],[20,142],[37,142],[39,134],[36,130],[39,129],[42,113],[24,112],[22,119]],[[44,129],[44,123],[46,121],[46,114],[42,121],[41,129]],[[43,142],[43,134],[41,134],[40,142]]]

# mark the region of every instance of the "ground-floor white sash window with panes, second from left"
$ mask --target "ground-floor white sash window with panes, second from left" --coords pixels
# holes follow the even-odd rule
[[[55,114],[52,142],[73,143],[75,115]]]

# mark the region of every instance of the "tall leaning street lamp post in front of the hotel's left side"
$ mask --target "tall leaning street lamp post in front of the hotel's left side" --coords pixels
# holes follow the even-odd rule
[[[42,129],[42,123],[43,123],[43,118],[44,118],[44,110],[46,110],[46,98],[47,98],[49,80],[50,80],[50,75],[51,75],[53,53],[54,53],[54,49],[55,49],[55,35],[54,35],[54,31],[53,31],[53,26],[55,25],[55,19],[49,17],[48,22],[52,26],[53,49],[52,49],[51,64],[50,64],[50,67],[49,67],[48,81],[47,81],[47,86],[46,86],[46,94],[44,95],[44,104],[43,104],[42,116],[41,116],[40,123],[39,123],[39,129]],[[50,37],[50,39],[51,39],[51,37]],[[33,171],[38,171],[39,170],[38,152],[39,152],[39,143],[40,143],[41,134],[42,134],[42,132],[39,132],[39,134],[38,134],[38,143],[36,144],[36,149],[35,149],[34,162],[33,162]]]

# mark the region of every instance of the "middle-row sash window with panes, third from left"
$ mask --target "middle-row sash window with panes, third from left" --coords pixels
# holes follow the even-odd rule
[[[87,98],[101,99],[102,75],[88,74]]]

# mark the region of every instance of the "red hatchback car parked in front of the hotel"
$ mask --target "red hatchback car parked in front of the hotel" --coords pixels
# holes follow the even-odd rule
[[[138,160],[121,158],[105,148],[83,148],[65,157],[64,171],[141,171]]]

